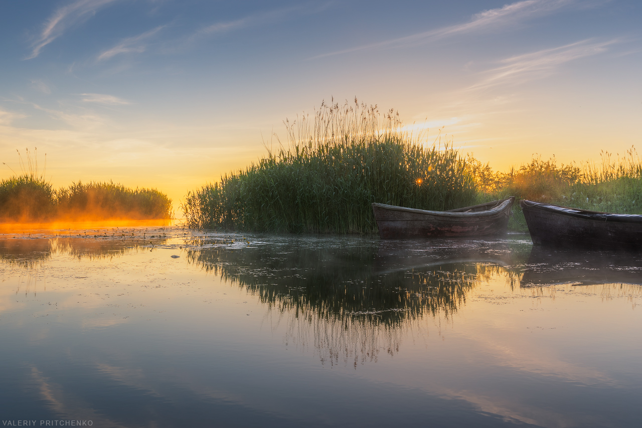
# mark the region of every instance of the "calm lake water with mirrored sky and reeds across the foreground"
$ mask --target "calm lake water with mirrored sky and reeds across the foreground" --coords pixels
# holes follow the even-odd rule
[[[139,227],[0,235],[0,276],[3,423],[642,421],[639,254]]]

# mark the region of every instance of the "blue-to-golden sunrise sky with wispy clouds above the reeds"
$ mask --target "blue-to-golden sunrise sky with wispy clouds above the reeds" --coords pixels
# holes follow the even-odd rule
[[[0,179],[191,190],[324,101],[399,111],[496,170],[642,151],[642,2],[0,4]],[[11,170],[11,169],[12,170]]]

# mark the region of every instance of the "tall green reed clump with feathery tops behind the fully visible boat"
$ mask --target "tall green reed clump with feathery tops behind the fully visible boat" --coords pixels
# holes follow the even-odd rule
[[[257,164],[190,192],[186,225],[289,233],[373,233],[372,202],[449,210],[474,202],[474,179],[451,145],[401,130],[394,111],[322,103],[286,125]]]

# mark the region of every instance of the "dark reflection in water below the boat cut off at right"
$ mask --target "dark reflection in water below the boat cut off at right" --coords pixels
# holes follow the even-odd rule
[[[521,287],[642,285],[642,254],[533,247]]]

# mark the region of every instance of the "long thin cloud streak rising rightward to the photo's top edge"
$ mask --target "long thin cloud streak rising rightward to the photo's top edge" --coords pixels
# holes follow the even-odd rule
[[[475,33],[489,30],[497,30],[498,28],[511,26],[526,19],[533,19],[548,15],[556,10],[563,8],[569,4],[577,3],[576,0],[523,0],[516,3],[506,4],[501,8],[485,10],[473,15],[473,19],[464,24],[456,24],[437,28],[435,30],[424,31],[397,39],[384,40],[372,44],[355,46],[354,48],[343,49],[329,53],[323,53],[309,59],[317,59],[329,57],[331,55],[340,55],[342,53],[351,53],[361,51],[364,49],[376,48],[399,48],[401,46],[412,46],[415,44],[428,43],[433,40],[442,39],[444,37]]]

